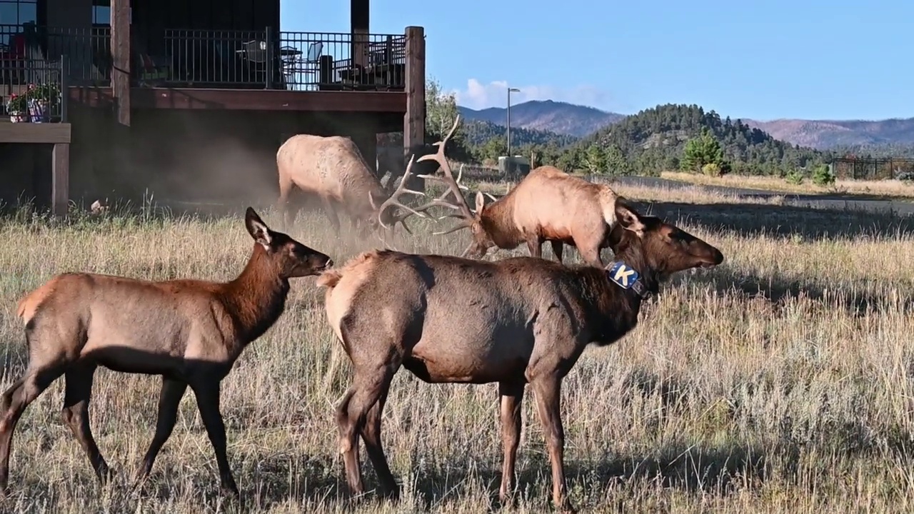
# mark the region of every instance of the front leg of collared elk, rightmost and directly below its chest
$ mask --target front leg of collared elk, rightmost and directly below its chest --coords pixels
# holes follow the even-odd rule
[[[552,464],[552,501],[563,512],[575,512],[565,484],[565,432],[559,409],[560,384],[555,374],[549,374],[532,381],[530,385],[536,395],[539,421],[543,424],[549,462]]]

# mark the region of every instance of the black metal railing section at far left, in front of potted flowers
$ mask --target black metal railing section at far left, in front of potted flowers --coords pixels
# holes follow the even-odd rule
[[[67,121],[68,59],[0,58],[0,109],[10,121]]]

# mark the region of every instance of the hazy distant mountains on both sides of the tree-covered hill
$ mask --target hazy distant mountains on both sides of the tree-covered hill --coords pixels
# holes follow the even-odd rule
[[[506,109],[490,107],[473,110],[459,107],[463,119],[505,126]],[[727,113],[722,113],[726,116]],[[584,137],[603,127],[622,121],[625,114],[600,111],[594,107],[567,102],[530,101],[511,106],[512,128],[524,128]],[[835,147],[871,147],[877,145],[914,145],[914,118],[877,121],[864,120],[799,120],[781,119],[758,121],[743,119],[743,123],[758,128],[775,139],[820,150]]]

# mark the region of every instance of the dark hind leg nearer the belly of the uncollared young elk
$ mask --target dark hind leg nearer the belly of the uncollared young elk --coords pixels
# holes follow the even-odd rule
[[[60,414],[89,457],[95,476],[101,484],[106,484],[111,478],[111,469],[101,456],[89,424],[89,402],[96,368],[94,363],[85,363],[67,370],[64,374],[64,399]]]

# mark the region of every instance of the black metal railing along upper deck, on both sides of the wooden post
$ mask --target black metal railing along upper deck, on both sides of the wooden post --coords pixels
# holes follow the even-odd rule
[[[70,85],[111,84],[110,27],[20,31],[0,25],[0,59],[53,63],[66,56]],[[140,87],[403,91],[406,84],[402,34],[134,27],[131,47],[131,79]]]

